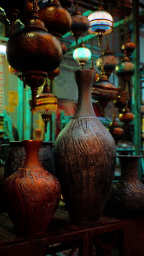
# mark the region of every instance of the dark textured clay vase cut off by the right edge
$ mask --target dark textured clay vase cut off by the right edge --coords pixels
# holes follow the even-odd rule
[[[138,177],[138,160],[143,156],[120,155],[121,178],[112,185],[104,214],[119,218],[143,216],[144,184]]]

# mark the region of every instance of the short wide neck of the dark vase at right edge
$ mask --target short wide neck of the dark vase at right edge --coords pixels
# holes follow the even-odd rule
[[[139,174],[139,158],[141,155],[119,155],[118,158],[121,161],[121,176],[138,176]]]

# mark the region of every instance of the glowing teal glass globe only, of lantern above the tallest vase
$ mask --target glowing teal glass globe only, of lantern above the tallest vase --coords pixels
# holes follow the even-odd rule
[[[74,53],[73,53],[73,58],[77,62],[79,62],[79,61],[85,61],[86,62],[86,61],[90,60],[91,57],[92,57],[92,53],[86,47],[79,47],[79,48],[75,49]]]

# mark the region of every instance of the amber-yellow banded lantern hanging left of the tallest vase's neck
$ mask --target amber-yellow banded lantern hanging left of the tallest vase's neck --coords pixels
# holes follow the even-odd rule
[[[41,114],[45,123],[45,133],[47,132],[47,122],[51,119],[52,113],[57,111],[57,96],[52,94],[47,79],[43,91],[37,96],[37,105],[35,110]]]

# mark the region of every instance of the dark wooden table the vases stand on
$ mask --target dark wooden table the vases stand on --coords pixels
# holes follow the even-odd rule
[[[69,222],[68,213],[58,208],[47,234],[19,237],[7,214],[0,214],[1,256],[45,256],[79,248],[79,256],[144,256],[144,219],[113,219],[103,216],[93,226]]]

